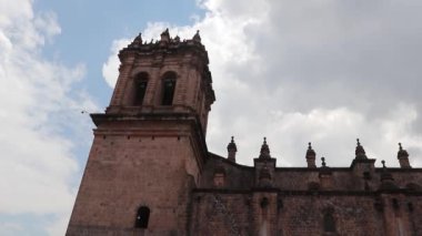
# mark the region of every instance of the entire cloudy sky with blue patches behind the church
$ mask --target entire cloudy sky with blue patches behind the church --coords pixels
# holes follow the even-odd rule
[[[355,138],[398,167],[422,166],[422,1],[0,0],[0,235],[63,235],[108,106],[118,51],[200,30],[217,101],[209,151],[251,165],[267,136],[278,166],[308,142],[350,166]],[[82,112],[84,111],[84,112]],[[318,162],[320,165],[320,162]]]

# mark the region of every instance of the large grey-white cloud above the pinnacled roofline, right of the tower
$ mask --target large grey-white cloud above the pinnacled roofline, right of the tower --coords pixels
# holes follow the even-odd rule
[[[412,151],[411,163],[418,163],[419,1],[199,4],[207,12],[192,25],[152,22],[143,38],[158,39],[167,27],[182,39],[201,30],[217,94],[210,151],[225,155],[221,141],[234,135],[240,163],[251,164],[268,136],[279,165],[304,166],[311,141],[330,165],[349,166],[354,138],[361,137],[369,156],[384,158],[389,166],[399,165],[399,141]]]

